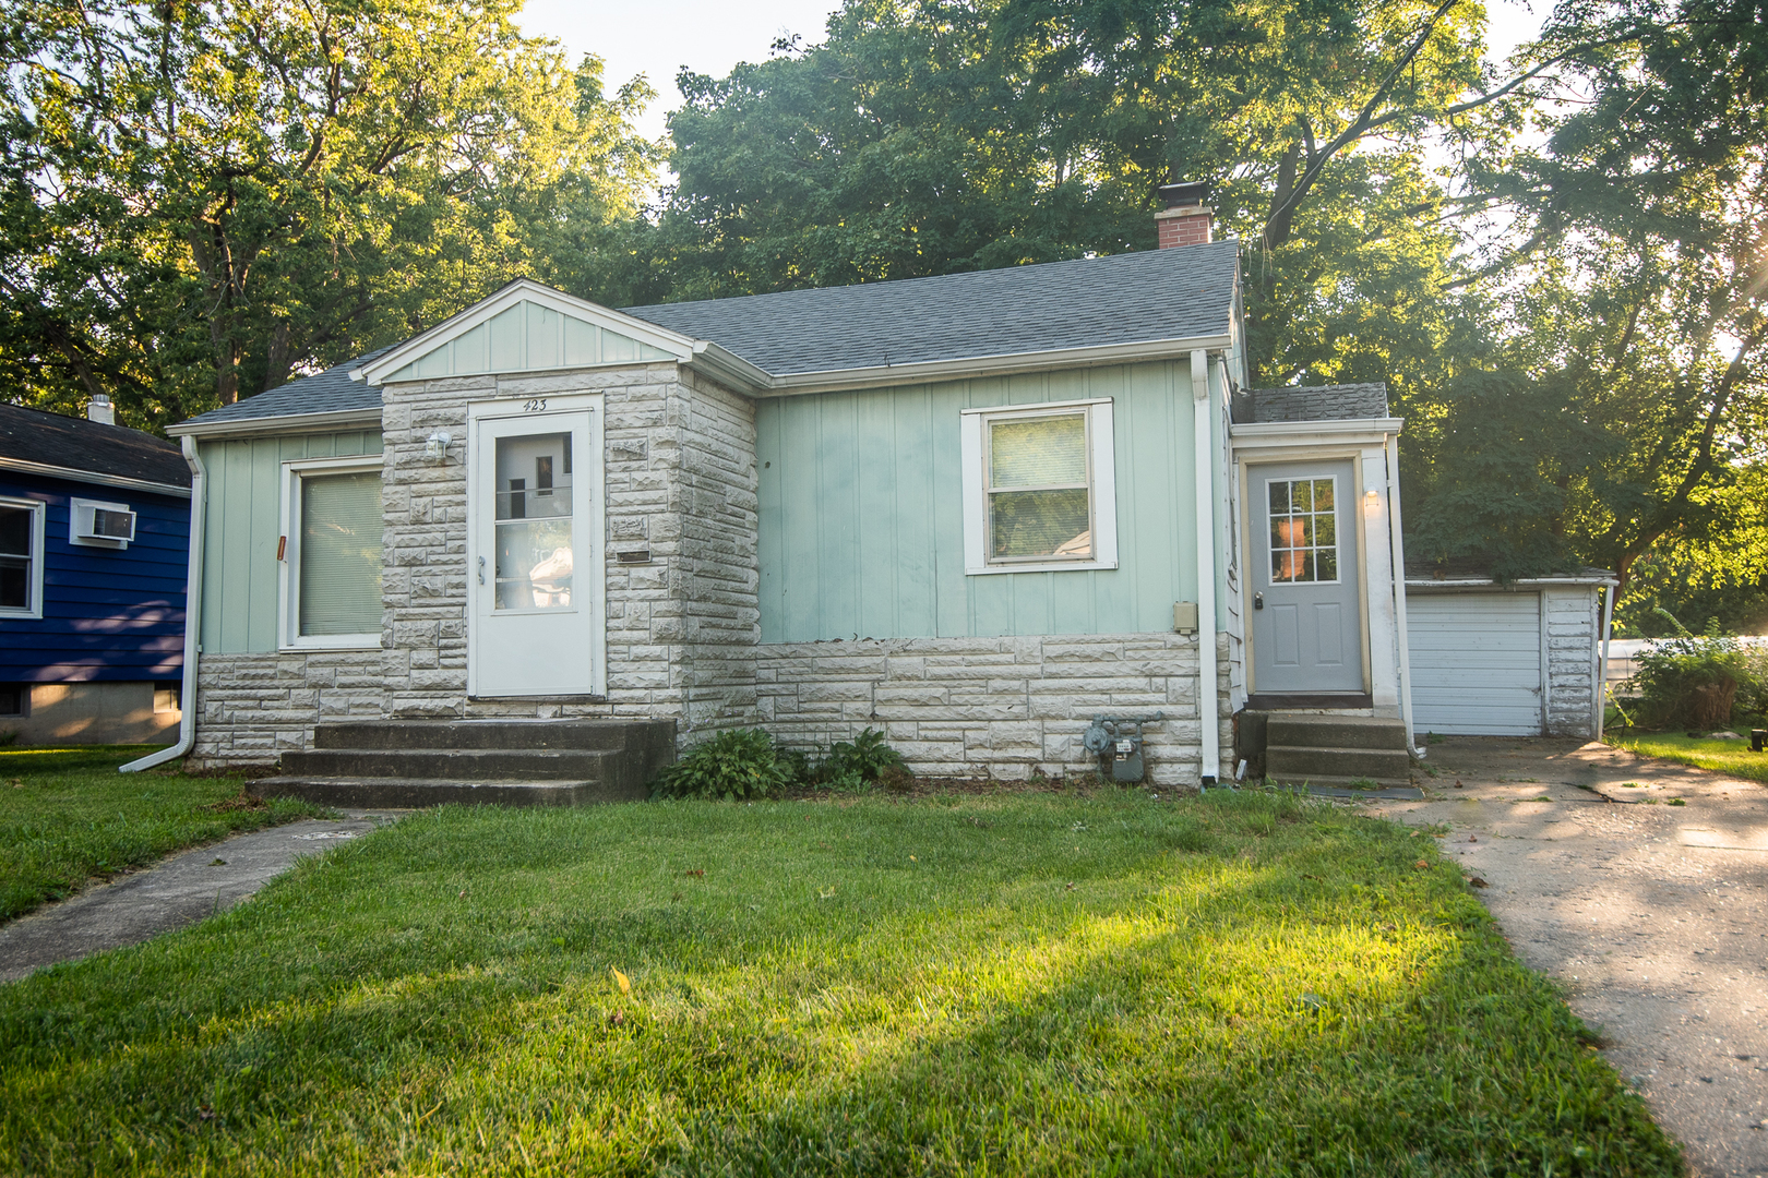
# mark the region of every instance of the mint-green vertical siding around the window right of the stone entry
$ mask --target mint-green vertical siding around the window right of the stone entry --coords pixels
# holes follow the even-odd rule
[[[1117,569],[965,576],[967,408],[1110,397]],[[1197,600],[1186,362],[757,403],[762,643],[1172,631]]]

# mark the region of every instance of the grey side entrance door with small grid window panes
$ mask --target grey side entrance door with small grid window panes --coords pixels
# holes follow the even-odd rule
[[[1246,491],[1252,691],[1367,691],[1351,463],[1250,466]]]

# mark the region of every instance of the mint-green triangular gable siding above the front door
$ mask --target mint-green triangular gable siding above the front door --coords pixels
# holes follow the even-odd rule
[[[456,339],[428,351],[387,380],[476,376],[479,373],[532,373],[585,364],[672,360],[667,351],[522,300]]]

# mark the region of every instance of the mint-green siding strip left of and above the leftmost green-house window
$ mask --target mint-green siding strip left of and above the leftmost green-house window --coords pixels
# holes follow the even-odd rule
[[[203,442],[203,653],[276,650],[283,463],[380,454],[380,431]]]

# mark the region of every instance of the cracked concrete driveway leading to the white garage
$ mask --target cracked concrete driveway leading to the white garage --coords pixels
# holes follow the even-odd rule
[[[1448,738],[1429,765],[1423,802],[1370,809],[1450,828],[1696,1174],[1768,1174],[1768,788],[1574,740]]]

